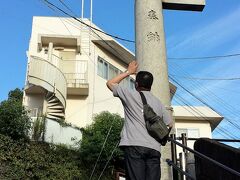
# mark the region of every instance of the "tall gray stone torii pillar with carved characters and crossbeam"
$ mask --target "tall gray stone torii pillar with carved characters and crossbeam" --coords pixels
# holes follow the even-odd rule
[[[135,0],[136,59],[139,70],[153,74],[152,93],[165,106],[170,106],[170,90],[166,61],[166,46],[163,26],[163,9],[202,11],[205,0]],[[166,159],[171,159],[168,143],[163,147],[161,179],[171,180],[172,171]]]

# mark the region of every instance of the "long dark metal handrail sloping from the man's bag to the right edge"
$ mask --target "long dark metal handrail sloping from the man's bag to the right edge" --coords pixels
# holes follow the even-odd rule
[[[223,169],[231,172],[232,174],[237,175],[237,176],[240,177],[240,172],[238,172],[238,171],[236,171],[234,169],[231,169],[231,168],[225,166],[224,164],[221,164],[218,161],[216,161],[216,160],[214,160],[214,159],[212,159],[212,158],[210,158],[210,157],[208,157],[208,156],[206,156],[206,155],[204,155],[204,154],[202,154],[202,153],[200,153],[198,151],[195,151],[195,150],[193,150],[193,149],[191,149],[191,148],[189,148],[187,146],[184,146],[183,144],[177,142],[176,140],[174,140],[174,139],[172,139],[170,137],[168,138],[168,140],[171,141],[172,143],[175,143],[176,145],[182,147],[183,149],[188,150],[189,152],[193,153],[194,155],[196,155],[196,156],[198,156],[198,157],[200,157],[202,159],[207,159],[208,161],[211,161],[212,163],[220,166],[221,168],[223,168]]]

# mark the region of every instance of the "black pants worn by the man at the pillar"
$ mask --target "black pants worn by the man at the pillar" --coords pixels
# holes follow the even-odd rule
[[[126,180],[160,180],[160,152],[141,146],[122,146]]]

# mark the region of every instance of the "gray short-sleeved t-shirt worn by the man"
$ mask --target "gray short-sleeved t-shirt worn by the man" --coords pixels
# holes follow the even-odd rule
[[[168,125],[172,119],[165,106],[151,92],[143,91],[143,94],[155,113],[162,116],[163,121]],[[120,146],[143,146],[160,151],[160,143],[147,132],[139,92],[117,84],[113,86],[113,95],[122,101],[125,114]]]

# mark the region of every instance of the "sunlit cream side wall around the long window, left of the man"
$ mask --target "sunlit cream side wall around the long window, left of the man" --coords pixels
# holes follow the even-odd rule
[[[107,81],[97,74],[98,56],[116,68],[120,69],[121,71],[125,71],[126,66],[124,67],[123,64],[119,63],[120,61],[116,57],[107,53],[103,49],[100,49],[96,45],[94,45],[93,50],[95,57],[95,66],[93,64],[89,65],[89,99],[91,99],[91,107],[89,107],[89,118],[91,119],[92,113],[96,114],[101,111],[118,113],[123,117],[123,108],[121,106],[121,101],[118,98],[113,97],[112,92],[106,86]]]

